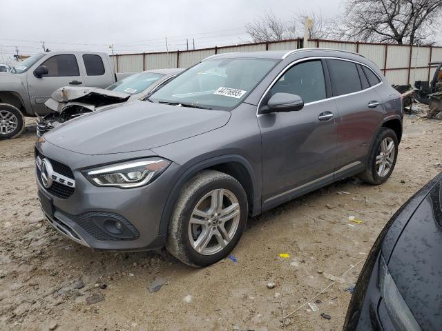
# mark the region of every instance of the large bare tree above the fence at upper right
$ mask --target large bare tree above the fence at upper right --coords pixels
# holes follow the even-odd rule
[[[344,8],[336,37],[414,45],[436,37],[442,0],[347,0]]]

